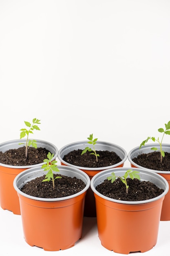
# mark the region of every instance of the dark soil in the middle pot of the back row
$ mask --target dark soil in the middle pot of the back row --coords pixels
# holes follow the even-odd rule
[[[95,155],[90,155],[90,152],[86,152],[83,155],[81,153],[82,149],[73,150],[64,155],[63,160],[69,164],[88,168],[110,166],[122,161],[115,152],[108,150],[96,150],[96,153],[99,154],[98,162],[96,162]]]

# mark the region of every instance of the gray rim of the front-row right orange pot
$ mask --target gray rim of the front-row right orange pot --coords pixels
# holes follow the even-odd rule
[[[116,173],[116,172],[126,172],[128,169],[132,169],[132,170],[135,170],[135,171],[139,171],[139,175],[142,177],[142,174],[144,175],[148,175],[148,177],[155,177],[157,178],[157,180],[161,180],[162,183],[164,184],[165,186],[165,189],[164,189],[164,192],[155,197],[155,198],[152,198],[152,199],[149,199],[149,200],[143,200],[143,201],[123,201],[123,200],[116,200],[116,199],[112,199],[112,198],[108,198],[106,197],[105,195],[102,195],[101,193],[99,193],[96,189],[95,189],[95,186],[97,186],[98,184],[102,183],[104,181],[104,179],[106,179],[106,177],[110,176],[112,172]],[[95,182],[96,181],[99,181],[97,182],[96,185]],[[141,180],[144,180],[141,178]],[[154,183],[154,182],[153,182]],[[115,203],[119,203],[119,204],[129,204],[129,205],[137,205],[137,204],[146,204],[146,203],[150,203],[150,202],[154,202],[156,200],[159,200],[160,198],[162,198],[163,196],[166,195],[166,193],[168,193],[168,190],[169,190],[169,184],[167,182],[167,180],[160,176],[159,174],[157,173],[154,173],[154,172],[151,172],[151,171],[146,171],[142,168],[132,168],[132,167],[121,167],[121,168],[111,168],[111,169],[107,169],[107,170],[104,170],[100,173],[97,173],[93,176],[93,178],[91,179],[91,189],[92,191],[97,194],[100,198],[104,198],[105,200],[108,200],[108,201],[111,201],[111,202],[115,202]]]

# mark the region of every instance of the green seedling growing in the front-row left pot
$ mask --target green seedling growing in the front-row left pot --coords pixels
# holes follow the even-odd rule
[[[44,171],[48,171],[48,173],[46,174],[45,176],[45,179],[42,180],[42,182],[45,182],[45,181],[52,181],[53,182],[53,189],[55,189],[55,184],[54,184],[54,181],[56,179],[60,179],[61,177],[60,176],[57,176],[55,177],[54,179],[54,175],[53,175],[53,171],[56,171],[56,172],[59,172],[59,169],[56,165],[57,161],[56,160],[53,160],[52,161],[52,158],[53,158],[54,154],[51,154],[50,152],[47,154],[47,158],[48,159],[44,159],[43,162],[45,164],[42,165],[42,168],[44,168]]]

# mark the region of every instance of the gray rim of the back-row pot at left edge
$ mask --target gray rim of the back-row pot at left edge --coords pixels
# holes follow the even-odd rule
[[[54,157],[53,157],[52,160],[56,159],[56,157],[58,155],[58,148],[54,144],[52,144],[49,141],[44,141],[44,140],[40,140],[40,139],[35,139],[35,140],[37,141],[37,144],[41,143],[41,144],[46,144],[46,145],[51,146],[54,149],[54,151],[55,151],[55,154],[54,154]],[[25,143],[26,139],[13,139],[13,140],[10,140],[10,141],[2,142],[2,143],[0,143],[0,151],[1,151],[1,146],[5,146],[5,145],[9,145],[9,144],[11,144],[11,145],[12,144],[19,144],[19,143],[22,143],[22,142]],[[22,145],[20,145],[20,147],[22,147]],[[45,145],[44,145],[44,147],[45,147]],[[32,167],[36,167],[36,166],[41,166],[42,164],[44,164],[44,162],[39,163],[39,164],[33,164],[33,165],[25,165],[25,166],[15,166],[15,165],[9,165],[9,164],[2,164],[2,163],[0,163],[0,166],[6,167],[6,168],[26,169],[26,168],[32,168]]]

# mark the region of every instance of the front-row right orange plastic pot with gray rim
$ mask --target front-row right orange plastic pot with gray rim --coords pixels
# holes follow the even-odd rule
[[[112,168],[97,173],[91,180],[91,189],[95,195],[97,228],[101,244],[108,250],[120,254],[147,252],[157,243],[161,208],[168,192],[166,179],[157,173],[139,168],[141,180],[154,183],[163,189],[163,194],[144,201],[121,201],[108,198],[95,188],[112,172],[123,176],[129,168]]]

